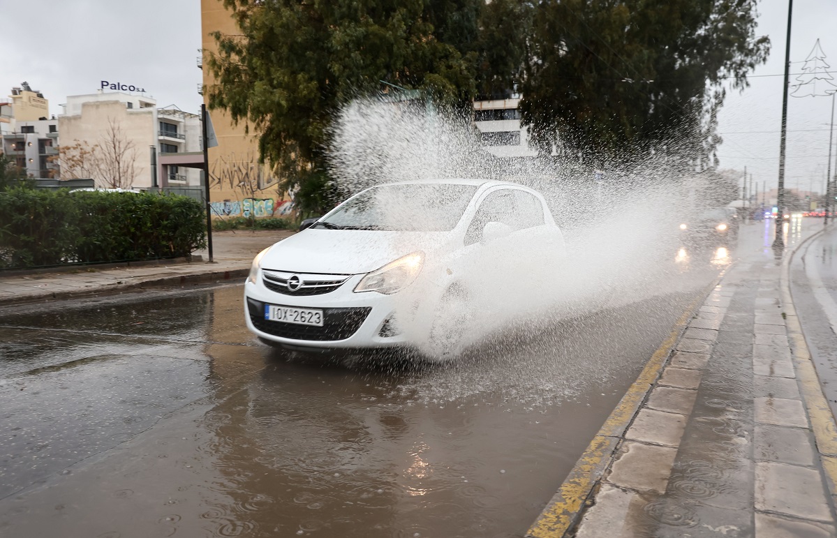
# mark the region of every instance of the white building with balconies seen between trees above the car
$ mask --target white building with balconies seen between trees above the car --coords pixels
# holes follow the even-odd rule
[[[474,101],[474,123],[486,151],[498,157],[532,157],[529,128],[521,126],[520,98]]]

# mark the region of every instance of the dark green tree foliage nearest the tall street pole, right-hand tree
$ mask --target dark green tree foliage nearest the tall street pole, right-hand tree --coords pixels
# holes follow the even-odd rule
[[[716,165],[723,83],[768,56],[757,0],[552,0],[534,14],[523,119],[542,149],[595,163],[634,148]]]

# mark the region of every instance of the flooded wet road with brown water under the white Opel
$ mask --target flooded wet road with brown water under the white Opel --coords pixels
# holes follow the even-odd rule
[[[683,252],[643,300],[449,366],[272,350],[241,286],[18,308],[0,535],[522,535],[729,258]]]

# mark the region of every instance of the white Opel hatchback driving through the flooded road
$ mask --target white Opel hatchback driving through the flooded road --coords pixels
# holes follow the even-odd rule
[[[544,198],[529,188],[379,185],[260,252],[244,284],[244,317],[262,341],[290,349],[403,346],[454,356],[475,311],[501,308],[503,290],[537,285],[527,268],[548,269],[563,249]]]

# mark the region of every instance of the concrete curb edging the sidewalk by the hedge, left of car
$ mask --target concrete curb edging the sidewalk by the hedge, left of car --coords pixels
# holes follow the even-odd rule
[[[107,284],[90,289],[69,289],[54,291],[44,295],[29,295],[21,297],[0,298],[0,308],[3,306],[31,305],[34,303],[45,303],[56,300],[79,299],[82,297],[93,297],[100,295],[116,295],[136,289],[162,288],[167,286],[184,286],[187,284],[205,284],[210,282],[222,282],[233,279],[244,279],[249,274],[249,267],[243,269],[224,269],[218,271],[207,271],[204,273],[178,274],[140,282],[125,282],[124,284]]]

